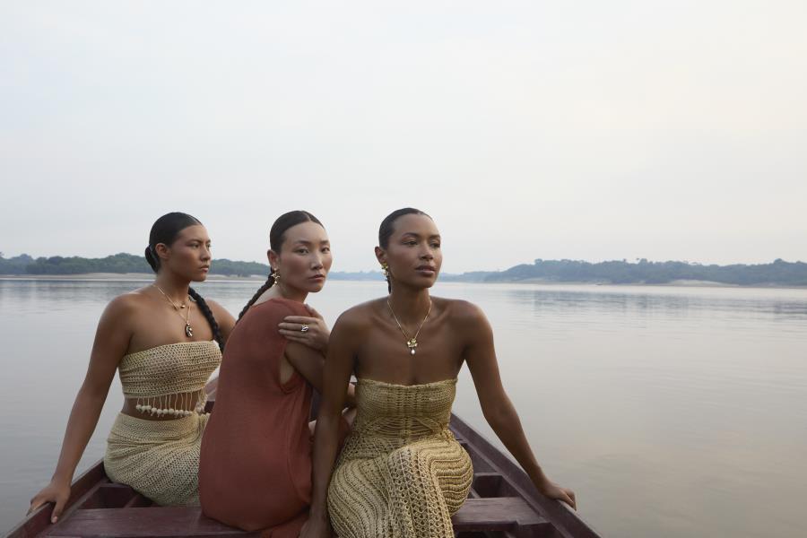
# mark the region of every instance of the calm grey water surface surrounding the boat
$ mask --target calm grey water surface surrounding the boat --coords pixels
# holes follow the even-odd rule
[[[53,473],[101,310],[141,285],[0,281],[0,532]],[[238,312],[259,282],[199,288]],[[329,282],[332,324],[382,282]],[[438,284],[496,333],[547,473],[606,536],[807,535],[807,291]],[[79,465],[104,451],[116,381]],[[467,371],[455,411],[493,435]]]

